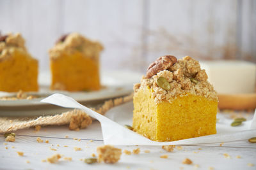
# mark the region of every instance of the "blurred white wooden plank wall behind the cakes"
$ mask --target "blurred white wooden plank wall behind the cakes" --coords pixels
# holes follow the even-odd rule
[[[73,31],[104,44],[103,69],[144,72],[164,54],[256,62],[253,0],[0,0],[0,30],[21,32],[40,70],[56,39]]]

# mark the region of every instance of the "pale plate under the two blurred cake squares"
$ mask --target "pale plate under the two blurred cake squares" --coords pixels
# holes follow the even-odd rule
[[[38,115],[54,115],[67,111],[67,109],[53,106],[51,104],[41,103],[40,101],[54,93],[65,94],[74,98],[81,104],[95,107],[103,103],[106,99],[125,96],[133,90],[133,84],[140,81],[140,73],[128,71],[102,71],[101,84],[103,88],[99,91],[91,92],[67,92],[59,90],[49,90],[51,76],[49,73],[40,73],[38,82],[40,84],[39,92],[29,92],[28,94],[39,96],[38,98],[27,100],[19,99],[12,101],[0,101],[0,116],[8,117],[30,117]],[[16,93],[0,92],[0,96],[16,96]]]

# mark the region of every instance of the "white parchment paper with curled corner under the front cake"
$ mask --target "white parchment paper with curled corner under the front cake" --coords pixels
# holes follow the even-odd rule
[[[217,134],[201,136],[198,138],[184,139],[172,142],[151,141],[124,127],[132,124],[132,102],[116,106],[106,113],[106,117],[77,103],[74,99],[63,94],[53,94],[42,100],[65,108],[84,110],[88,115],[99,120],[102,128],[104,144],[107,145],[192,145],[198,143],[221,143],[249,139],[256,136],[256,113],[253,119],[243,122],[242,125],[231,127],[232,120],[218,114],[220,121],[216,125]],[[256,110],[255,110],[256,112]]]

